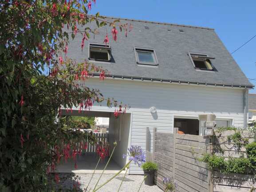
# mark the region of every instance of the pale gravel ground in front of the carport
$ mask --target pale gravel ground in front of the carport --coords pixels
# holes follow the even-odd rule
[[[87,187],[87,184],[89,183],[89,180],[91,179],[92,174],[83,174],[79,173],[77,174],[80,178],[79,180],[79,188],[84,189]],[[60,177],[67,176],[65,174],[60,175]],[[100,174],[95,174],[91,184],[89,185],[88,189],[94,188],[94,185],[96,184]],[[101,180],[99,181],[99,185],[104,183],[106,180],[108,180],[111,176],[114,176],[114,174],[103,174]],[[117,192],[119,185],[122,181],[123,175],[118,175],[113,180],[111,180],[108,184],[103,186],[101,189],[98,190],[98,192]],[[142,175],[127,175],[124,182],[122,183],[122,187],[120,189],[120,192],[138,192],[138,188],[143,180]],[[76,183],[76,182],[75,182]],[[63,182],[63,184],[67,188],[71,188],[73,186],[73,181],[66,180]],[[76,183],[77,184],[77,183]],[[88,190],[87,190],[88,191]],[[157,185],[154,186],[148,186],[144,183],[142,184],[142,187],[140,189],[140,192],[163,192]]]

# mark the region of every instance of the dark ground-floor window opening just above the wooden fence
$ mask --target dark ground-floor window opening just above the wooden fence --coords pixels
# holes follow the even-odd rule
[[[174,118],[174,127],[177,127],[180,134],[199,135],[199,120]]]

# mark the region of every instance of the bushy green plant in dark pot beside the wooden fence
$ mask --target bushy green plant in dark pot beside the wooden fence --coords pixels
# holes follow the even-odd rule
[[[144,183],[150,186],[154,185],[154,175],[155,171],[158,170],[158,165],[151,161],[146,161],[146,163],[142,164],[142,168],[144,176],[146,176]]]

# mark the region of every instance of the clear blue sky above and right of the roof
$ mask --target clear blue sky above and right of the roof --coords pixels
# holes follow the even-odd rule
[[[256,0],[96,0],[91,14],[211,27],[232,52],[256,35],[255,8]],[[256,38],[233,57],[248,78],[256,78]]]

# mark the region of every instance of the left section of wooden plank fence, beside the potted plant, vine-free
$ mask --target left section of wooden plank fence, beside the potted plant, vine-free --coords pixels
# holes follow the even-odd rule
[[[196,159],[207,152],[209,138],[180,135],[177,131],[158,133],[154,129],[154,161],[158,163],[156,184],[164,189],[163,177],[174,178],[177,192],[209,192],[210,173]]]

